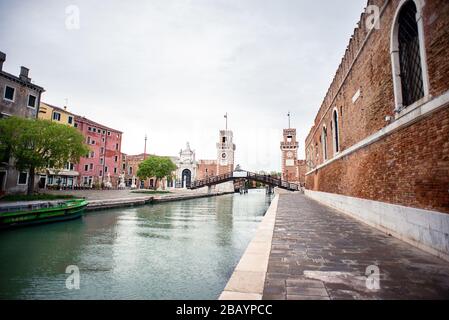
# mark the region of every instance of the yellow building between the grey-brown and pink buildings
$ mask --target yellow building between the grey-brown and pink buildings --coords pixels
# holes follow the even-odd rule
[[[75,115],[67,111],[67,107],[59,108],[48,103],[41,102],[39,105],[38,118],[75,126]],[[76,178],[79,173],[74,170],[73,163],[66,163],[64,168],[55,170],[47,168],[40,173],[39,187],[48,189],[72,189],[75,187]]]

